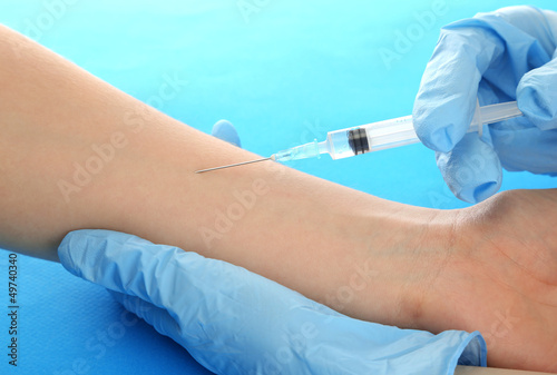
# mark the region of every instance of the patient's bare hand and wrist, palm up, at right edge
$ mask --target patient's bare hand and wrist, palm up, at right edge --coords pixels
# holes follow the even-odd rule
[[[490,366],[557,372],[557,189],[506,191],[457,217],[420,324],[480,330]]]

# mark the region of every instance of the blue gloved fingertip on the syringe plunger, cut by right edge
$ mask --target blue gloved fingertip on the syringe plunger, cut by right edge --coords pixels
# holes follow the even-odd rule
[[[548,63],[528,71],[517,88],[518,108],[541,130],[557,128],[557,51]]]

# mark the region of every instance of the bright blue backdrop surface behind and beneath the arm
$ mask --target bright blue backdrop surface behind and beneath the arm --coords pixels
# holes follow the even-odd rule
[[[549,0],[530,3],[555,9]],[[244,148],[268,156],[330,130],[411,114],[439,28],[511,4],[519,2],[2,0],[0,22],[203,131],[226,118]],[[382,58],[388,50],[397,59]],[[159,90],[173,79],[179,85],[163,99]],[[291,166],[401,203],[466,206],[421,145]],[[557,179],[504,176],[504,189],[545,187]],[[0,373],[208,374],[174,342],[123,315],[100,287],[58,264],[20,255],[18,265],[18,368],[6,356],[6,307]],[[0,306],[8,306],[3,250],[0,278]]]

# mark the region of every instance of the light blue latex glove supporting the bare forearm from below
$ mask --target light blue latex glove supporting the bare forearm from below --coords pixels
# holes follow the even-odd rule
[[[58,255],[217,374],[432,375],[486,365],[478,333],[353,319],[244,268],[135,236],[72,231]]]

